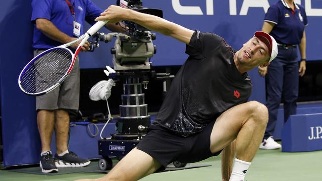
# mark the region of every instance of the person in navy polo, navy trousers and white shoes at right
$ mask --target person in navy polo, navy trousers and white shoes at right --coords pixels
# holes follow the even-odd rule
[[[278,149],[280,144],[272,138],[277,120],[277,110],[284,99],[284,122],[291,114],[296,114],[299,76],[306,70],[305,26],[308,25],[303,6],[294,0],[279,0],[268,8],[262,31],[275,38],[278,55],[268,67],[259,67],[261,76],[266,76],[267,107],[269,120],[260,148]],[[301,61],[298,64],[297,46],[300,49]]]

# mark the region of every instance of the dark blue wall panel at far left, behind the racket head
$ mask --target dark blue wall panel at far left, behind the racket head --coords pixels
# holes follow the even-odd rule
[[[0,6],[0,86],[4,165],[34,163],[39,157],[35,100],[17,86],[18,75],[32,55],[30,0],[5,0]]]

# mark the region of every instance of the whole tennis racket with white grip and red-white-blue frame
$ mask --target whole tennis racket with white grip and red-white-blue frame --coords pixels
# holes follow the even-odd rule
[[[84,35],[64,45],[48,49],[34,57],[21,71],[20,89],[28,95],[43,95],[59,86],[74,66],[82,45],[108,21],[95,23]],[[75,54],[66,47],[81,41]]]

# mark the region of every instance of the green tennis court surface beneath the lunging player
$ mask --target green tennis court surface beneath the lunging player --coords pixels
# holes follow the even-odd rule
[[[221,181],[220,159],[219,155],[198,162],[212,164],[211,167],[162,172],[140,181]],[[281,150],[259,150],[245,181],[322,181],[321,170],[322,151],[283,153]],[[0,170],[0,181],[74,181],[102,176],[103,174],[92,173],[44,176]]]

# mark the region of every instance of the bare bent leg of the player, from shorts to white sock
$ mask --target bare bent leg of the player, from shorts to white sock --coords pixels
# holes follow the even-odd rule
[[[228,109],[215,122],[211,151],[215,153],[236,139],[236,158],[251,162],[262,142],[267,122],[268,110],[259,102],[250,101]]]

